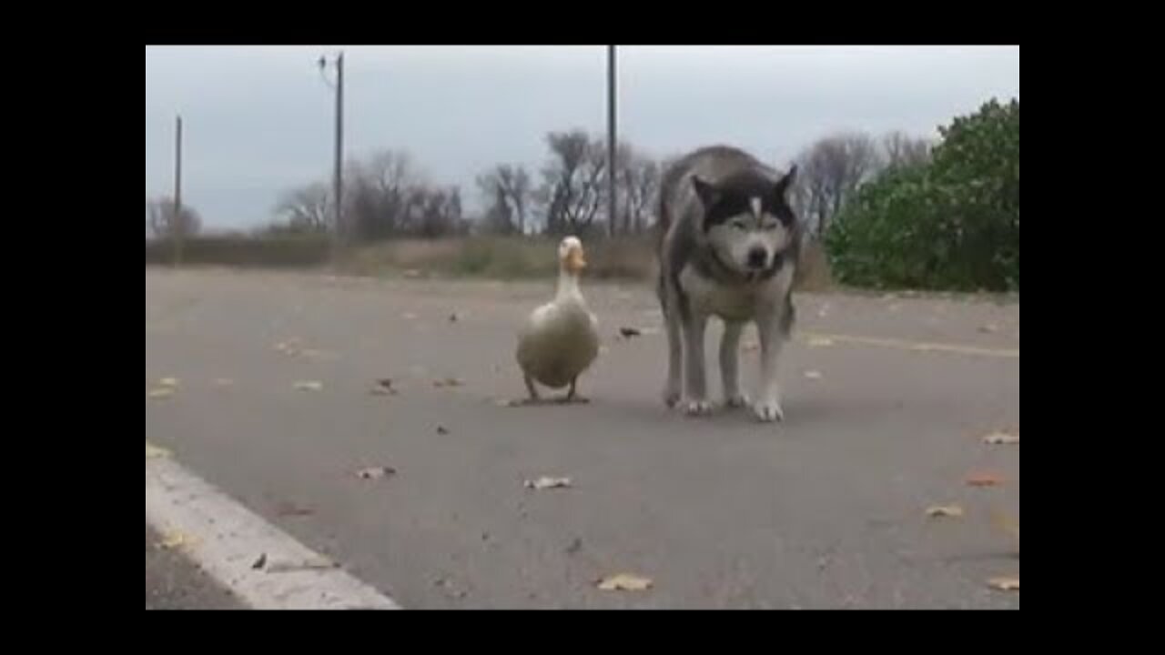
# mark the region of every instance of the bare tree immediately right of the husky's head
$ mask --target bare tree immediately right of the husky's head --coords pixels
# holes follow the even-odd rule
[[[821,139],[799,157],[795,198],[804,216],[824,234],[849,196],[881,167],[874,140],[863,133]]]

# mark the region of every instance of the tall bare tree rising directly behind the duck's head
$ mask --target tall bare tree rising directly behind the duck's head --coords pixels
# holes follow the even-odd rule
[[[535,198],[542,206],[546,232],[584,233],[589,230],[606,199],[606,147],[586,132],[551,132],[546,135],[550,160],[542,169],[543,183]]]

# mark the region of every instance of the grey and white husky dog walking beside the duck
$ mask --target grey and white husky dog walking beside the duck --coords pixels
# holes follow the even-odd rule
[[[726,146],[701,148],[672,164],[659,186],[659,280],[668,326],[668,407],[680,401],[707,414],[704,333],[709,316],[725,323],[720,374],[725,404],[749,403],[740,390],[740,334],[755,321],[761,337],[761,388],[753,411],[784,418],[777,360],[792,330],[793,269],[802,224],[786,198],[796,165],[781,175]],[[680,388],[680,373],[684,386]]]

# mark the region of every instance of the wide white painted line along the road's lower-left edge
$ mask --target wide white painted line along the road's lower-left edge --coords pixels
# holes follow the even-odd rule
[[[400,610],[146,444],[146,522],[256,610]],[[262,558],[262,566],[254,568]]]

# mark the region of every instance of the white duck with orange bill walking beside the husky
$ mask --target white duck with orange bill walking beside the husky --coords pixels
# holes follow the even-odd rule
[[[579,274],[586,268],[582,242],[567,237],[558,245],[558,293],[530,312],[518,332],[517,362],[525,375],[530,402],[538,402],[535,381],[560,389],[570,385],[563,402],[586,402],[574,393],[579,375],[599,354],[599,321],[579,290]]]

